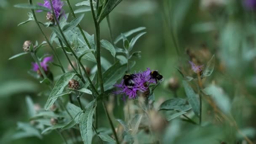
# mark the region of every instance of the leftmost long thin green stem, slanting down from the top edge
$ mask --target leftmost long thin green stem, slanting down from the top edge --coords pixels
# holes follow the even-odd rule
[[[33,4],[33,3],[32,3],[32,0],[29,0],[29,4],[31,4],[31,5]],[[61,61],[60,61],[60,59],[59,59],[59,56],[57,55],[56,51],[55,51],[54,48],[53,48],[53,45],[51,45],[50,41],[48,40],[48,38],[46,37],[45,33],[43,32],[43,29],[40,27],[39,22],[37,21],[37,17],[35,16],[35,11],[34,11],[34,9],[31,9],[31,11],[32,11],[34,20],[35,20],[35,22],[36,22],[36,24],[37,24],[37,27],[40,29],[40,31],[41,31],[41,33],[43,34],[43,36],[44,36],[46,42],[48,43],[48,45],[50,46],[51,50],[53,51],[53,55],[57,58],[57,60],[58,60],[58,62],[59,62],[59,65],[61,66],[62,72],[65,73],[65,69],[64,69],[64,67],[63,67],[62,64],[61,64]]]

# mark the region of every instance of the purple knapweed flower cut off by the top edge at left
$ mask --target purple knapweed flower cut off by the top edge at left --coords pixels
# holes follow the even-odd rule
[[[62,10],[62,7],[64,6],[64,2],[61,0],[52,0],[52,3],[53,3],[54,13],[56,14],[56,17],[59,19],[60,16],[64,15],[64,10]],[[45,8],[48,8],[51,10],[51,3],[49,0],[44,0],[44,3],[38,3],[38,5],[44,6]],[[41,12],[41,11],[39,10],[37,12]]]

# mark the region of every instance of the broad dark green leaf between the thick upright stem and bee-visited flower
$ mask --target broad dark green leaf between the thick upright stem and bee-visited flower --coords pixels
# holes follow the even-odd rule
[[[121,65],[119,61],[113,64],[107,71],[102,74],[104,89],[109,90],[125,74],[127,66]]]

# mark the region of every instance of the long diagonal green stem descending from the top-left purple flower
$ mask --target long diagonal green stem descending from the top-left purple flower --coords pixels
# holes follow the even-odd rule
[[[50,0],[50,4],[51,4],[51,9],[53,9],[52,0]],[[69,42],[67,41],[67,38],[65,37],[64,33],[62,32],[61,27],[60,27],[60,25],[59,25],[59,21],[58,21],[58,19],[57,19],[57,17],[56,17],[55,12],[54,12],[54,11],[52,11],[52,12],[53,12],[54,21],[56,21],[57,27],[59,28],[59,31],[60,31],[60,33],[61,33],[61,36],[63,37],[65,43],[67,44],[67,47],[69,48],[69,50],[71,51],[71,53],[75,56],[75,59],[77,59],[78,63],[79,63],[80,66],[82,67],[82,69],[83,69],[83,71],[84,71],[84,73],[85,73],[85,76],[87,77],[87,79],[88,79],[88,81],[89,81],[89,83],[90,83],[90,85],[91,85],[92,91],[95,92],[95,93],[97,93],[97,95],[99,95],[99,93],[98,93],[98,91],[96,91],[96,88],[94,87],[94,85],[93,85],[93,83],[92,83],[92,81],[91,81],[91,79],[90,79],[88,73],[86,72],[85,68],[83,67],[82,62],[79,61],[77,55],[75,54],[75,52],[73,51],[73,49],[70,47],[70,44],[69,44]],[[82,77],[83,77],[83,76],[82,76]],[[85,80],[84,80],[83,78],[82,78],[82,81],[83,81],[83,83],[85,83]]]

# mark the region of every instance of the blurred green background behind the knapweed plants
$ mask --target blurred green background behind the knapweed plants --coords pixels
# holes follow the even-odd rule
[[[71,0],[74,9],[76,3],[82,0]],[[34,0],[34,3],[43,0]],[[211,3],[210,3],[211,2]],[[0,143],[61,143],[59,136],[52,132],[44,139],[26,138],[11,140],[16,131],[17,121],[28,121],[25,96],[32,97],[35,103],[44,106],[47,97],[38,96],[46,89],[38,80],[27,74],[33,61],[29,55],[8,61],[11,56],[21,53],[25,40],[39,41],[44,38],[34,21],[17,25],[28,19],[27,9],[14,8],[17,3],[27,3],[27,0],[0,0]],[[69,9],[65,6],[66,13]],[[37,13],[40,21],[45,21],[45,13]],[[72,16],[69,16],[69,20]],[[216,83],[229,96],[232,104],[236,101],[234,112],[248,116],[237,116],[241,127],[255,127],[255,56],[256,29],[255,12],[246,10],[242,0],[123,0],[110,14],[110,22],[114,37],[121,32],[127,32],[137,27],[146,27],[147,33],[136,43],[134,51],[141,51],[141,59],[136,61],[133,71],[145,70],[147,67],[158,70],[165,78],[163,85],[157,88],[156,99],[168,99],[173,93],[168,90],[168,79],[181,75],[175,67],[191,73],[188,60],[194,55],[199,64],[206,65],[211,56],[216,56],[216,67],[213,75],[205,85]],[[89,34],[94,34],[94,24],[90,12],[85,13],[81,26]],[[49,29],[43,29],[48,37]],[[134,35],[133,35],[134,36]],[[131,40],[132,37],[128,39]],[[109,30],[106,19],[101,23],[101,39],[109,40]],[[121,47],[122,43],[118,43]],[[178,48],[178,53],[176,51]],[[57,50],[61,62],[67,67],[67,60],[60,49]],[[48,46],[41,51],[51,54]],[[102,50],[102,55],[113,62],[108,51]],[[85,65],[93,67],[91,62]],[[60,69],[50,65],[54,76],[60,75]],[[184,90],[178,91],[184,97]],[[102,110],[102,116],[104,112]],[[119,108],[122,109],[122,108]],[[246,110],[247,109],[247,110]],[[208,119],[207,109],[203,119]],[[116,115],[117,116],[117,115]],[[235,117],[235,116],[234,116]],[[100,123],[104,125],[107,122]],[[255,140],[255,137],[253,136]]]

